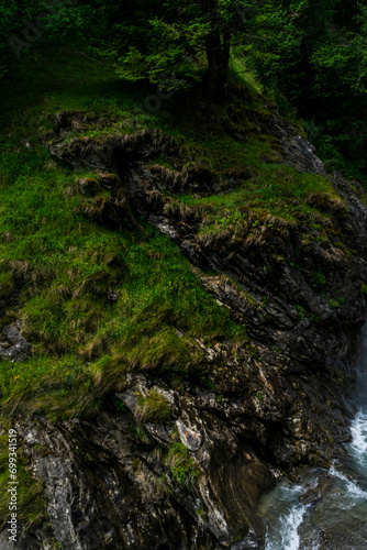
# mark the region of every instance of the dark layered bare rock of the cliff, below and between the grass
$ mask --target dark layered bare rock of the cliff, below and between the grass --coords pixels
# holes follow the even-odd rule
[[[215,392],[131,373],[97,417],[19,419],[47,514],[44,528],[23,528],[15,548],[262,548],[257,505],[280,470],[344,458],[366,318],[362,189],[333,174],[336,198],[309,197],[330,215],[329,239],[302,219],[270,215],[256,223],[249,217],[236,232],[203,233],[200,211],[180,207],[176,196],[225,193],[235,182],[155,164],[163,152],[180,154],[180,144],[159,132],[70,138],[86,120],[63,113],[49,145],[54,158],[81,170],[81,211],[115,229],[140,230],[143,217],[168,234],[208,292],[247,328],[249,343],[193,342]],[[312,145],[276,112],[259,124],[285,164],[327,176]],[[164,406],[155,416],[144,409],[153,395]],[[5,531],[0,547],[13,548]]]

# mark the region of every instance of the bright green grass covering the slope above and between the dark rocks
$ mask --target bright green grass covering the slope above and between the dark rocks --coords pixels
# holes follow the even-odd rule
[[[266,116],[256,91],[243,89],[246,108]],[[51,419],[91,414],[109,389],[123,385],[131,369],[159,372],[178,387],[187,375],[208,383],[208,366],[192,337],[209,346],[218,338],[246,340],[245,330],[203,290],[167,238],[149,227],[111,231],[77,213],[80,198],[70,193],[76,175],[57,166],[40,144],[38,136],[52,128],[51,114],[96,113],[100,122],[90,130],[96,136],[158,127],[185,142],[181,166],[199,158],[219,177],[240,174],[241,184],[226,195],[176,198],[179,207],[204,215],[203,234],[234,231],[248,216],[254,227],[268,213],[293,220],[303,211],[312,222],[314,210],[304,205],[305,197],[332,193],[329,182],[279,165],[271,139],[253,132],[256,123],[246,119],[238,101],[202,117],[182,101],[174,118],[169,101],[155,114],[140,109],[149,92],[67,50],[51,52],[48,58],[33,52],[2,84],[0,292],[5,299],[15,294],[20,310],[10,305],[1,324],[20,318],[33,344],[25,363],[0,364],[3,426],[13,411],[42,411]],[[246,134],[246,142],[234,141],[234,130]],[[116,301],[107,299],[109,289]],[[27,503],[41,498],[41,487],[32,485],[32,493],[31,477],[22,471],[23,517],[36,520]]]

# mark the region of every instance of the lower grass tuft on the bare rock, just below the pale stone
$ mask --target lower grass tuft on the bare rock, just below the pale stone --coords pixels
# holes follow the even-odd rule
[[[166,464],[170,469],[174,483],[182,487],[191,487],[200,474],[190,451],[182,443],[171,443]]]

